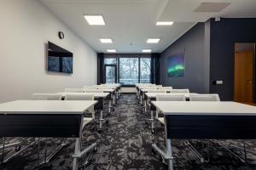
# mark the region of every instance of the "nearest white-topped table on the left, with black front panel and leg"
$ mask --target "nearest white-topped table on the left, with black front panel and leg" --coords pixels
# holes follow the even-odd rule
[[[96,147],[81,150],[84,112],[96,100],[15,100],[0,104],[0,137],[75,138],[73,170],[78,159]]]

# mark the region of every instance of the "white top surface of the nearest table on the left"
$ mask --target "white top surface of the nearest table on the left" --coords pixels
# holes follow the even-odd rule
[[[15,100],[0,104],[0,114],[83,114],[96,100]]]

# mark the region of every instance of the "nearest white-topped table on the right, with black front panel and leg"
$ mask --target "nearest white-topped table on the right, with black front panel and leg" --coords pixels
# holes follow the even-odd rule
[[[236,102],[152,101],[164,114],[165,157],[172,170],[171,139],[256,139],[256,107]]]

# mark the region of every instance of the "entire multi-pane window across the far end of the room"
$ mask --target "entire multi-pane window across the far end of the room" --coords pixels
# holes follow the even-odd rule
[[[151,82],[151,56],[143,54],[113,54],[104,58],[105,82],[135,85]]]

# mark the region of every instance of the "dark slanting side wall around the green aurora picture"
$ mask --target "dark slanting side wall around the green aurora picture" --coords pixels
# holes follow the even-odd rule
[[[198,23],[160,56],[160,83],[173,88],[189,88],[195,93],[209,93],[209,35],[208,23]],[[208,35],[207,35],[208,34]],[[208,51],[207,51],[207,50]],[[185,55],[185,76],[168,77],[167,59],[173,54]]]

